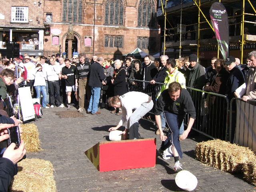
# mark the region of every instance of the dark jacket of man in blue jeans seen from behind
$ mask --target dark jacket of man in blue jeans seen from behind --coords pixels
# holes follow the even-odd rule
[[[94,62],[91,64],[90,72],[89,72],[89,83],[88,85],[91,87],[101,87],[102,80],[106,78],[104,74],[104,70],[100,63]]]

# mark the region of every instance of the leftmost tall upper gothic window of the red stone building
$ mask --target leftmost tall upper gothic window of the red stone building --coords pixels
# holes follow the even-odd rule
[[[82,22],[82,0],[63,0],[62,20]]]

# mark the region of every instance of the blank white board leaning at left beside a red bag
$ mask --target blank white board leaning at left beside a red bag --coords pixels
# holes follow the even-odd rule
[[[30,87],[20,87],[18,88],[18,92],[20,97],[20,107],[22,111],[23,121],[34,119],[36,114],[34,110]]]

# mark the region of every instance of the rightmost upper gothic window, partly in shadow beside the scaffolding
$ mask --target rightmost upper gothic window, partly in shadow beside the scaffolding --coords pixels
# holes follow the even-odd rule
[[[156,26],[156,4],[154,0],[140,0],[138,6],[138,26]]]

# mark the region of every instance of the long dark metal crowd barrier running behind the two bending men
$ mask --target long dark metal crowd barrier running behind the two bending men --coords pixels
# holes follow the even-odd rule
[[[163,83],[152,85],[147,81],[128,79],[128,85],[129,91],[144,92],[150,95],[155,104]],[[209,138],[226,140],[229,108],[227,97],[190,87],[186,87],[186,89],[190,92],[196,108],[196,120],[192,129]],[[151,113],[154,114],[154,110],[151,110]],[[184,118],[184,125],[187,126],[187,124],[188,115]]]

